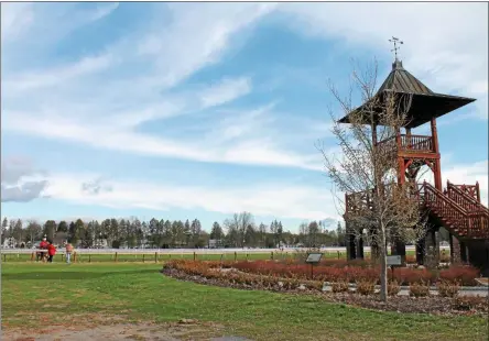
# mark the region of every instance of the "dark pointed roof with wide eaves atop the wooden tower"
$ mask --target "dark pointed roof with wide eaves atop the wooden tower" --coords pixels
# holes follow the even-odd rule
[[[376,97],[382,98],[387,92],[413,95],[411,106],[408,108],[408,124],[405,124],[405,128],[416,128],[430,122],[432,118],[438,118],[475,101],[474,98],[443,95],[432,91],[427,86],[404,69],[402,62],[398,59],[392,63],[392,70],[380,86]],[[363,103],[355,109],[355,111],[361,110],[366,105]],[[378,108],[378,110],[381,111],[382,108]],[[340,119],[339,122],[349,123],[348,116]],[[369,123],[370,122],[366,121],[366,124]]]

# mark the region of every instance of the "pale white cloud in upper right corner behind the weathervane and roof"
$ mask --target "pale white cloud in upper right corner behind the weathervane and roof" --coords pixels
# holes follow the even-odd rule
[[[436,92],[474,96],[487,119],[488,4],[283,3],[287,24],[314,36],[390,53],[390,34],[404,41],[403,65]]]

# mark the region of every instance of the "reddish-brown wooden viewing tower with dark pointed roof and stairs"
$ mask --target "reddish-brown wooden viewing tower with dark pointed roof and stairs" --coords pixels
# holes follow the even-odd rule
[[[461,108],[472,101],[472,98],[442,95],[432,91],[423,82],[416,79],[402,66],[398,58],[392,64],[392,70],[380,86],[376,99],[383,102],[388,95],[402,98],[409,95],[410,103],[405,107],[408,123],[404,131],[398,130],[396,134],[383,141],[377,139],[377,127],[372,130],[372,144],[379,151],[393,153],[398,158],[398,184],[406,182],[416,183],[416,177],[423,166],[427,166],[433,173],[434,185],[428,183],[416,184],[414,194],[420,200],[422,210],[426,210],[430,217],[430,226],[433,226],[426,238],[416,244],[416,260],[419,264],[425,264],[425,256],[430,255],[436,262],[439,261],[438,229],[445,228],[450,234],[452,263],[470,262],[471,264],[489,271],[489,210],[480,202],[479,184],[455,185],[447,182],[444,189],[442,183],[441,153],[436,119],[453,110]],[[361,112],[369,103],[363,103],[354,112]],[[372,108],[372,107],[369,107]],[[383,110],[373,107],[373,111]],[[349,114],[339,120],[340,123],[349,123]],[[371,124],[366,120],[365,124]],[[411,130],[430,123],[431,135],[412,134]],[[355,210],[366,210],[371,207],[370,190],[345,195],[345,217]],[[355,230],[348,223],[347,230]],[[371,232],[368,232],[371,233]],[[347,233],[348,258],[363,257],[363,239],[356,238],[361,233]],[[372,245],[376,248],[376,245]],[[405,244],[394,241],[392,253],[405,258]],[[373,251],[372,251],[373,252]],[[428,253],[432,254],[428,254]]]

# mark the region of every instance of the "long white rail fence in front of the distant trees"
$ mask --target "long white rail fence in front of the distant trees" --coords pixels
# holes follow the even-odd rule
[[[414,251],[413,245],[405,248],[406,251]],[[439,250],[449,250],[449,246],[439,246]],[[77,254],[253,254],[253,253],[271,253],[271,252],[300,252],[307,249],[289,248],[289,249],[75,249]],[[0,249],[2,254],[32,254],[39,249]],[[64,252],[64,248],[59,248],[58,252]],[[324,253],[345,253],[346,248],[323,248]],[[363,252],[370,252],[370,246],[363,248]]]

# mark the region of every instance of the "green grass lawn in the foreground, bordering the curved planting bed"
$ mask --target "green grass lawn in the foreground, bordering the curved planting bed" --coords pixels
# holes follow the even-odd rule
[[[306,296],[203,286],[164,277],[161,267],[3,263],[2,327],[37,328],[46,319],[76,323],[97,315],[159,323],[197,319],[221,326],[220,336],[253,340],[487,340],[480,317],[378,312]]]

